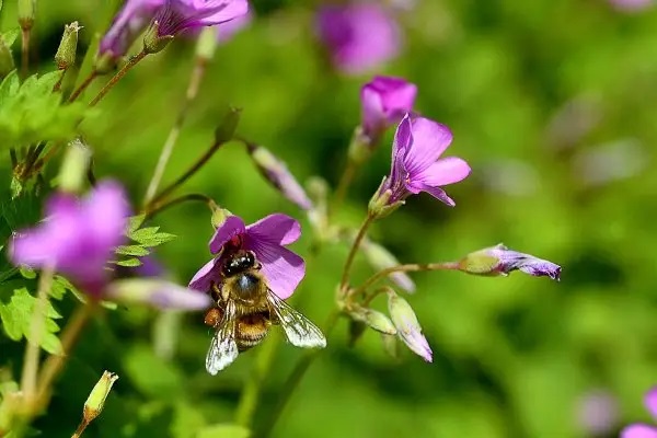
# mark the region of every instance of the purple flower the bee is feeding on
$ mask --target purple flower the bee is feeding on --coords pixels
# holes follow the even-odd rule
[[[221,266],[226,244],[239,244],[240,249],[253,251],[262,265],[262,273],[269,288],[278,298],[290,297],[303,276],[303,258],[286,249],[301,235],[299,222],[287,215],[275,214],[245,226],[242,218],[230,216],[217,229],[210,240],[210,252],[219,254],[203,266],[189,281],[192,289],[207,292],[212,285],[223,281]]]

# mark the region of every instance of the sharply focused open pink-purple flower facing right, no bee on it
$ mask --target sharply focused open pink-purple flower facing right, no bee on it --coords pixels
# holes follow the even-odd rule
[[[394,135],[392,170],[379,196],[390,191],[388,205],[392,205],[427,192],[453,207],[454,201],[440,186],[462,181],[470,174],[470,166],[460,158],[439,158],[451,140],[447,126],[406,114]]]

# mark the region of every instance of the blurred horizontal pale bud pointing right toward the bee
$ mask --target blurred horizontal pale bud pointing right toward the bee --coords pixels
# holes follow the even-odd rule
[[[155,309],[203,310],[211,304],[206,293],[157,278],[115,280],[107,298],[126,304],[146,304]]]

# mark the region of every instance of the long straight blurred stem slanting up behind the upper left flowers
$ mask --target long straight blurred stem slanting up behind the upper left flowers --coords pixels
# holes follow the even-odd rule
[[[189,107],[192,106],[192,102],[196,99],[198,94],[198,89],[200,85],[200,81],[205,76],[207,68],[207,59],[203,57],[197,57],[194,68],[192,69],[192,76],[189,77],[189,83],[187,85],[187,92],[185,93],[185,100],[178,111],[177,117],[171,130],[169,131],[169,136],[166,137],[166,141],[162,147],[162,152],[160,152],[160,159],[158,160],[158,164],[153,172],[153,176],[148,185],[148,189],[146,191],[146,196],[143,198],[143,205],[148,205],[155,196],[158,192],[158,186],[160,185],[160,181],[162,180],[162,175],[164,174],[164,169],[166,169],[166,163],[169,163],[169,159],[171,158],[171,153],[173,152],[173,148],[177,141],[178,135],[181,134],[181,129],[187,117],[187,113],[189,112]]]

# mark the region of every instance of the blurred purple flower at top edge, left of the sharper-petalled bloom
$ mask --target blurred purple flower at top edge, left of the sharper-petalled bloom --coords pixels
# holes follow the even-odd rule
[[[127,0],[101,39],[99,54],[111,59],[124,56],[164,2],[165,0]]]

